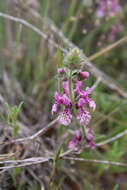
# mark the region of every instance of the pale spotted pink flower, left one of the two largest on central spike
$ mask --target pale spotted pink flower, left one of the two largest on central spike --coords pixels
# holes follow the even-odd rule
[[[68,126],[71,123],[72,114],[69,109],[65,108],[59,114],[59,123]]]

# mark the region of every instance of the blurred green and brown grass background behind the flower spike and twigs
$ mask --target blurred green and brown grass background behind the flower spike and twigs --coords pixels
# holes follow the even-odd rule
[[[0,12],[24,19],[46,34],[45,40],[20,22],[0,17],[0,141],[14,137],[14,129],[5,119],[5,102],[11,106],[24,102],[17,121],[20,127],[16,138],[34,134],[53,120],[51,106],[57,85],[59,49],[54,44],[69,50],[74,43],[87,57],[95,55],[91,57],[92,64],[126,94],[127,39],[101,55],[96,54],[127,35],[125,0],[4,0],[0,1]],[[88,85],[93,85],[96,78],[91,72]],[[97,110],[90,125],[96,143],[127,128],[127,96],[109,86],[100,81],[92,94]],[[35,142],[2,145],[0,154],[19,151],[16,159],[48,156],[56,150],[63,133],[61,126]],[[124,135],[92,151],[84,149],[79,157],[126,162],[126,144],[127,136]],[[46,189],[51,169],[49,162],[2,172],[0,190]],[[125,167],[61,160],[57,165],[54,189],[126,190],[126,179]]]

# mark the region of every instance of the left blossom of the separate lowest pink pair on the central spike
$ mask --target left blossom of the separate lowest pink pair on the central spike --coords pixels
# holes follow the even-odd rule
[[[77,144],[79,143],[79,141],[81,141],[80,131],[79,130],[75,130],[73,132],[73,139],[68,144],[68,148],[69,149],[74,149],[77,146]]]

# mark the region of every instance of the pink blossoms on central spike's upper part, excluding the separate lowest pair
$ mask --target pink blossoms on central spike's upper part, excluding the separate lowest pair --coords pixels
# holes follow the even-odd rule
[[[58,72],[64,72],[63,69],[59,69]],[[87,79],[89,77],[88,72],[78,72],[78,77],[81,79]],[[69,94],[69,82],[63,80],[61,83],[62,93],[55,91],[54,93],[54,104],[52,106],[52,114],[59,113],[59,123],[68,126],[72,121],[73,109],[77,112],[76,118],[79,120],[81,125],[88,125],[91,119],[90,112],[86,109],[88,106],[93,111],[96,109],[95,102],[89,98],[92,89],[87,87],[82,90],[83,82],[78,80],[78,77],[74,77],[73,81],[73,98],[74,105]],[[62,109],[62,111],[61,111]]]

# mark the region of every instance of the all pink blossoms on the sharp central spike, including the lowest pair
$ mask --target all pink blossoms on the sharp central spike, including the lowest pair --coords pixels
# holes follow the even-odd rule
[[[71,72],[71,77],[68,77],[66,69],[59,68],[58,75],[63,76],[60,80],[61,93],[55,91],[54,104],[52,106],[52,114],[58,114],[59,123],[68,126],[73,118],[76,118],[81,126],[87,126],[91,120],[89,109],[95,111],[96,104],[89,97],[92,88],[86,87],[83,89],[83,81],[89,77],[88,72],[75,71]],[[77,146],[81,140],[79,130],[73,132],[73,139],[69,142],[69,148]],[[93,135],[89,132],[86,134],[86,142],[88,147],[93,148]]]

